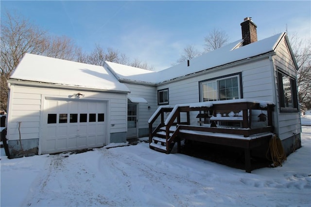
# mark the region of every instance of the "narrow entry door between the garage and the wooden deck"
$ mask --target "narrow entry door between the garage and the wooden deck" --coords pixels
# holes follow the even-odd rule
[[[135,138],[138,135],[137,107],[138,104],[135,103],[127,105],[127,138]]]

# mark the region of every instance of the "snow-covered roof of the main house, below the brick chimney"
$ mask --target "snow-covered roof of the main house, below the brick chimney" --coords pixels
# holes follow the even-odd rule
[[[272,52],[276,49],[277,44],[281,38],[283,38],[284,34],[285,33],[279,33],[246,46],[242,46],[243,40],[241,39],[191,59],[189,66],[187,63],[181,63],[158,72],[110,62],[105,62],[104,67],[108,66],[107,68],[110,69],[119,80],[158,84],[217,66]]]

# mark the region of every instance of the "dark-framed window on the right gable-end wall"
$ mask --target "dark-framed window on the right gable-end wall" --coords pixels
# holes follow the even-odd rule
[[[279,102],[281,111],[297,111],[296,80],[284,73],[277,72]]]

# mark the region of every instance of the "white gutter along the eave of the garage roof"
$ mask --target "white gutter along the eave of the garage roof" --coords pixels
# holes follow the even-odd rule
[[[17,80],[17,79],[9,79],[7,80],[9,84],[16,84],[16,85],[24,85],[24,86],[36,86],[41,88],[62,88],[62,89],[71,89],[77,90],[77,88],[85,91],[93,91],[93,92],[108,92],[108,93],[131,93],[130,91],[120,91],[120,90],[110,90],[110,89],[98,89],[98,88],[87,88],[81,86],[71,86],[71,85],[61,85],[56,83],[46,83],[46,82],[37,82],[37,81],[30,81],[30,80]]]

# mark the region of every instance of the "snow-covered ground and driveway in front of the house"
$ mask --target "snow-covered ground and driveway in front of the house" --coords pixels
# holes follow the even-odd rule
[[[1,154],[1,207],[311,206],[311,128],[282,167],[251,174],[148,143],[19,159]]]

